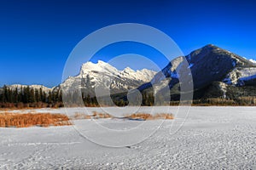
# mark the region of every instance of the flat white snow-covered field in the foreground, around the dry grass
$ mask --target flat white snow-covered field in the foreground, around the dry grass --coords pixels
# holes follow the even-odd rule
[[[166,111],[157,107],[154,113]],[[70,112],[78,112],[69,109]],[[89,112],[100,111],[90,108]],[[150,112],[150,107],[142,111]],[[170,107],[177,111],[177,107]],[[16,111],[27,112],[27,111]],[[35,112],[65,113],[65,109]],[[128,111],[129,112],[129,111]],[[93,131],[91,120],[75,126]],[[125,147],[106,147],[85,139],[77,128],[0,128],[0,169],[256,169],[256,107],[191,107],[177,133],[170,134],[173,120],[144,122],[102,119],[98,122],[122,130],[135,126],[160,127],[143,142]],[[110,122],[110,123],[109,123]],[[87,131],[86,131],[87,130]],[[104,141],[106,135],[100,134]],[[108,137],[106,137],[108,138]]]

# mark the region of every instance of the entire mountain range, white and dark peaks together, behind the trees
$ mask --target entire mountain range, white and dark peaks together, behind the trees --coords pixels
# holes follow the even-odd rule
[[[184,68],[189,73],[183,71]],[[54,88],[42,85],[31,85],[30,88],[42,88],[47,93],[59,88],[64,91],[82,90],[84,94],[94,96],[95,88],[102,87],[110,90],[110,94],[120,94],[120,99],[125,99],[127,91],[131,89],[138,89],[142,93],[167,95],[164,89],[168,88],[171,90],[171,99],[178,100],[181,93],[191,93],[181,91],[181,77],[192,78],[195,100],[256,96],[256,62],[212,44],[173,59],[160,72],[147,69],[134,71],[129,67],[119,71],[99,60],[96,64],[84,63],[77,76],[68,77]],[[8,87],[20,89],[25,86],[15,84]]]

